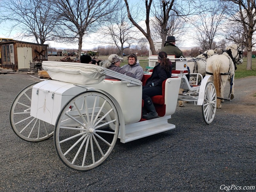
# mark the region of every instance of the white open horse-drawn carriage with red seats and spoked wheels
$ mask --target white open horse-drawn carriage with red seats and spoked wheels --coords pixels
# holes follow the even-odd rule
[[[209,78],[201,86],[190,87],[180,63],[180,74],[163,83],[162,95],[152,97],[159,115],[142,119],[142,82],[91,64],[44,61],[43,68],[54,80],[24,88],[10,110],[13,131],[26,141],[41,141],[54,135],[54,145],[61,161],[69,168],[90,170],[102,164],[117,138],[122,143],[175,128],[168,119],[180,100],[202,105],[204,121],[211,123],[216,111],[216,93]],[[177,64],[176,64],[177,65]],[[104,79],[105,75],[120,80]],[[209,76],[210,77],[210,76]],[[179,95],[179,89],[187,89]]]

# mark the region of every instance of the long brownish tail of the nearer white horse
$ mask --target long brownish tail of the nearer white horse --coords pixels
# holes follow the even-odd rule
[[[221,76],[220,76],[221,60],[216,59],[212,62],[213,84],[215,86],[217,97],[220,97]],[[220,108],[220,99],[217,99],[217,108]]]

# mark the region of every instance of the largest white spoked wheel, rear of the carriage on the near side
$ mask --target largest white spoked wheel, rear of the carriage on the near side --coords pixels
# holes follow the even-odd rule
[[[101,92],[82,92],[67,102],[57,118],[57,154],[71,169],[93,169],[113,150],[118,130],[119,118],[113,101]]]

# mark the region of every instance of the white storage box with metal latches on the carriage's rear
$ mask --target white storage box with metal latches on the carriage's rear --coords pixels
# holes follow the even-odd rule
[[[60,81],[42,81],[33,86],[30,115],[55,125],[62,107],[86,89]],[[93,103],[93,102],[92,102]]]

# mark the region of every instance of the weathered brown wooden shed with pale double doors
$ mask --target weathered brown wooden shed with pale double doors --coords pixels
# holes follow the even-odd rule
[[[2,68],[15,71],[30,69],[30,61],[47,61],[47,44],[17,40],[0,42]]]

